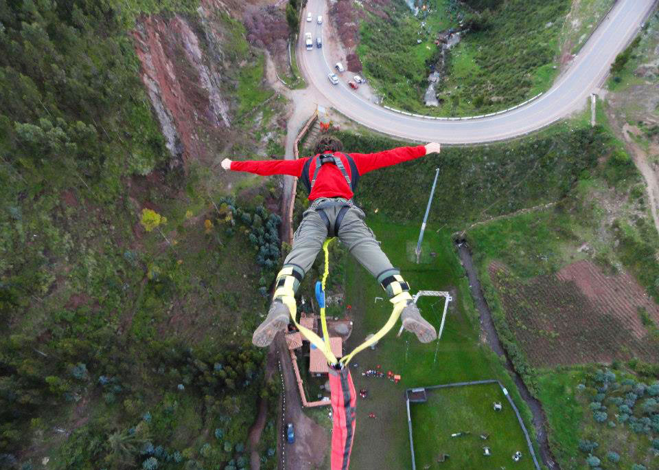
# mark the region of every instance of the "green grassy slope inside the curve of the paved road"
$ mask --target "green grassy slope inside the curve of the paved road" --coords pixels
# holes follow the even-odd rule
[[[548,89],[557,74],[568,0],[472,2],[475,10],[434,0],[425,18],[415,18],[402,1],[394,5],[388,18],[362,23],[357,49],[365,75],[391,107],[432,115],[491,113]],[[439,58],[435,36],[460,21],[470,32],[449,54],[448,74],[437,86],[441,104],[425,107],[429,67]]]

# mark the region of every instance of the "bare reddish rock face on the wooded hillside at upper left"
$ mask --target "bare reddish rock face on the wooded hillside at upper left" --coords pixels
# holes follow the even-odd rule
[[[132,34],[141,78],[173,157],[170,167],[203,158],[207,135],[221,135],[231,126],[229,102],[222,93],[221,43],[213,30],[211,6],[205,2],[198,9],[200,29],[205,32],[201,41],[209,43],[210,58],[189,20],[179,15],[147,16]]]

